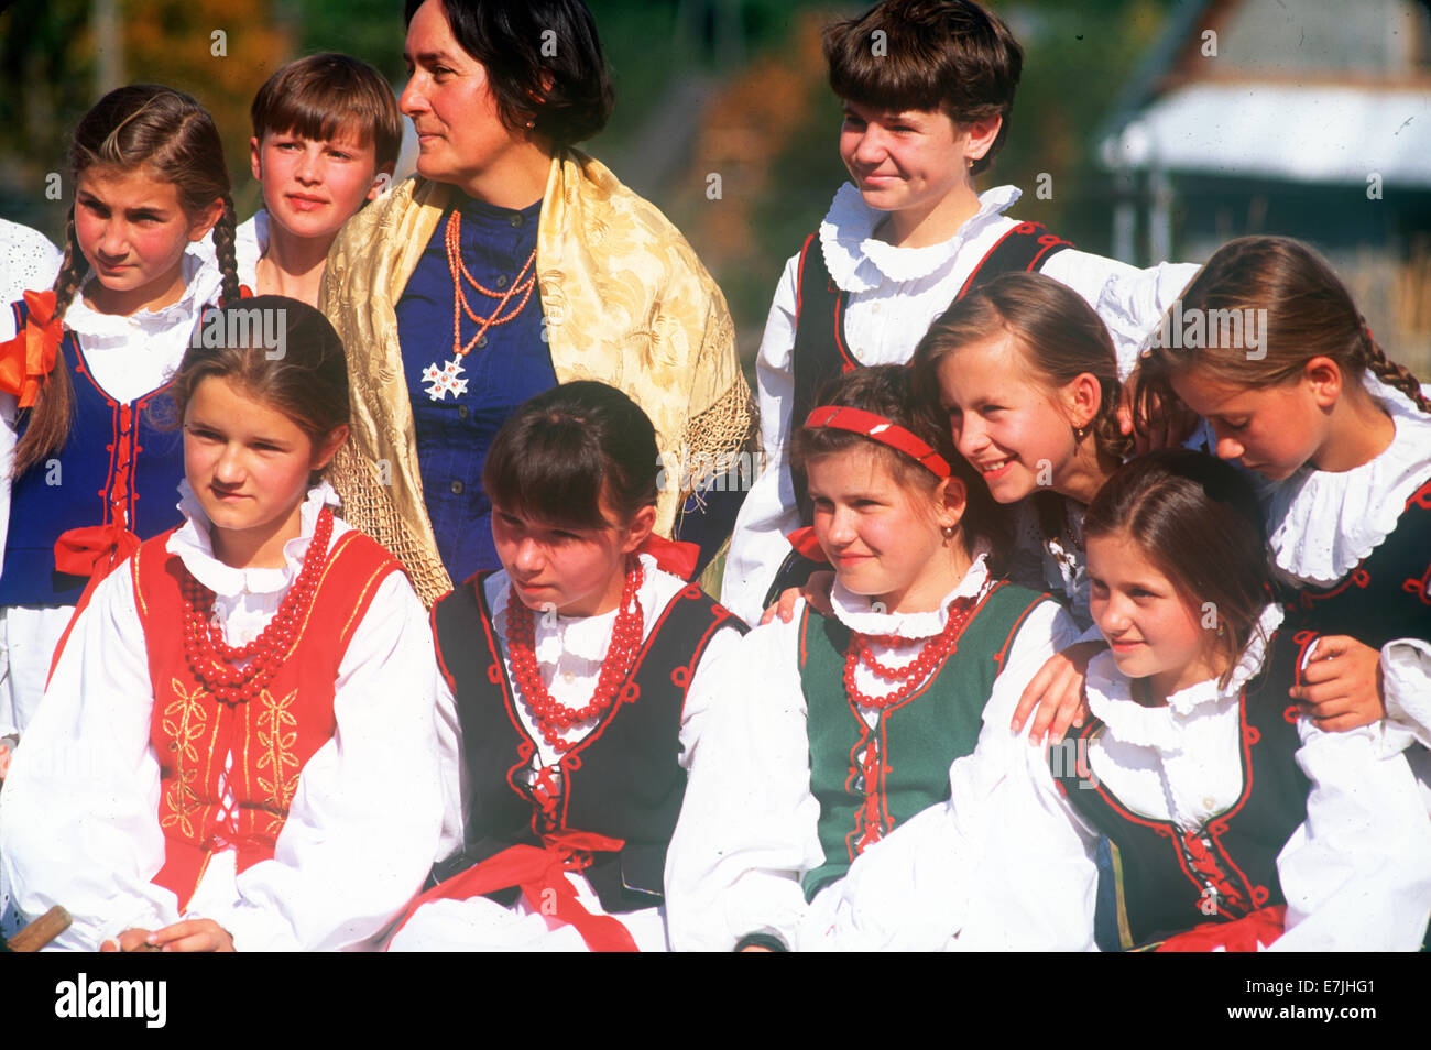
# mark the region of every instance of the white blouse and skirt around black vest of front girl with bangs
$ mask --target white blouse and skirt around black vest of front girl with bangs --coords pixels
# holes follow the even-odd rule
[[[643,638],[648,638],[661,612],[670,601],[688,584],[680,576],[657,568],[655,561],[641,555],[645,578],[637,591],[643,611]],[[507,645],[507,602],[508,576],[498,571],[484,584],[487,608],[492,612],[492,628],[502,647],[502,662],[507,679],[515,687],[511,657]],[[597,688],[601,677],[601,661],[611,644],[617,611],[597,617],[537,615],[532,638],[537,668],[552,698],[565,707],[584,707]],[[681,708],[680,762],[690,768],[691,755],[701,738],[703,727],[713,708],[728,702],[720,691],[727,679],[728,667],[738,651],[740,634],[718,631],[701,655],[695,674]],[[474,644],[481,644],[475,641]],[[464,800],[468,797],[467,768],[462,762],[462,727],[456,715],[456,701],[446,678],[438,675],[438,742],[441,750],[441,781],[444,798],[442,835],[435,860],[446,860],[462,848],[462,828],[467,823]],[[531,707],[518,691],[517,714],[522,728],[537,742],[537,754],[527,771],[535,778],[542,767],[555,765],[561,752],[542,740],[541,728]],[[584,740],[601,722],[601,717],[574,725],[565,731],[567,740]],[[582,907],[594,916],[605,914],[591,883],[580,871],[567,873],[567,880],[577,891]],[[664,951],[665,908],[641,908],[620,916],[643,951]],[[485,897],[471,900],[439,900],[424,904],[392,941],[395,951],[475,951],[475,950],[585,950],[585,943],[575,928],[558,926],[550,928],[547,917],[534,911],[525,900],[511,908]]]

